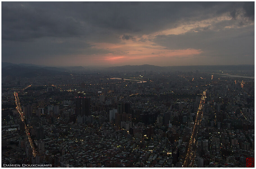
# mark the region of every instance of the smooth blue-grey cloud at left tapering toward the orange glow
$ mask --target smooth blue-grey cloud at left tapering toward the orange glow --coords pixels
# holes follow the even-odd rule
[[[2,56],[12,60],[12,56],[17,59],[26,60],[34,58],[50,59],[55,56],[73,56],[73,55],[93,55],[107,54],[109,51],[96,49],[94,45],[85,43],[78,38],[40,38],[35,39],[33,43],[23,41],[16,43],[14,41],[6,41],[2,43],[2,49],[12,46],[12,50],[2,50]],[[72,57],[71,57],[72,59]]]

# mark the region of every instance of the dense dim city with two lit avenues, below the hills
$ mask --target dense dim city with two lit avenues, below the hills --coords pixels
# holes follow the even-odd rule
[[[245,167],[254,157],[252,71],[110,74],[2,77],[2,166]]]

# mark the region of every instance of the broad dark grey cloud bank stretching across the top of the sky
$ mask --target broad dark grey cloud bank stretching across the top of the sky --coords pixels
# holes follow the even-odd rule
[[[254,16],[250,4],[243,6],[247,17]],[[2,39],[77,37],[102,29],[148,34],[175,27],[180,20],[202,20],[233,8],[229,2],[3,2]]]

